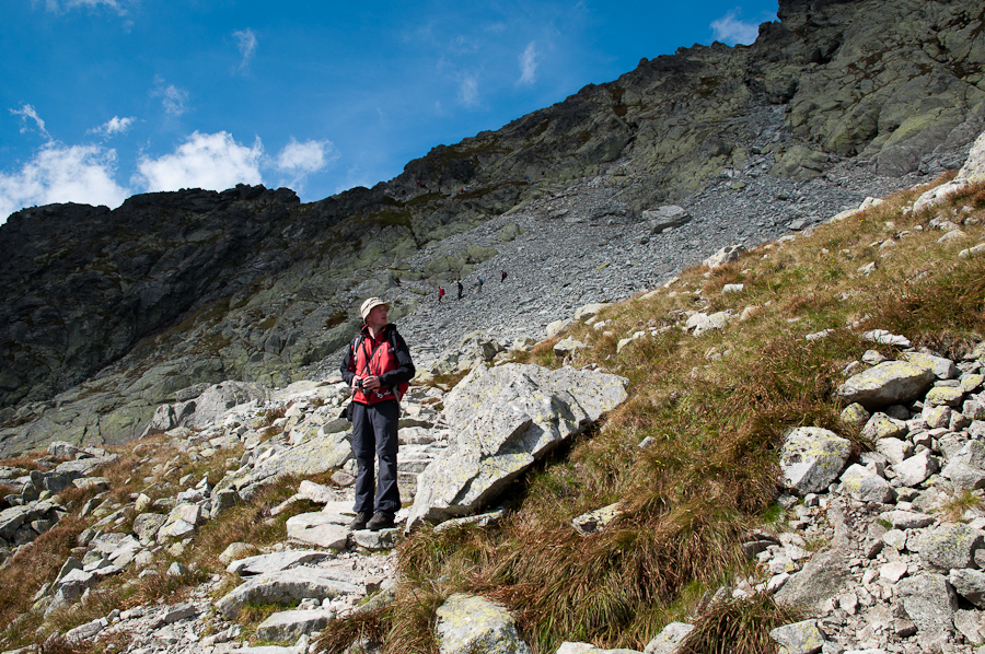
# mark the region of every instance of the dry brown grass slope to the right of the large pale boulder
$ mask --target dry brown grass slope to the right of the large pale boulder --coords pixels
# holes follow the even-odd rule
[[[604,429],[514,484],[507,494],[517,510],[499,527],[440,536],[424,529],[406,541],[401,567],[409,589],[401,597],[417,604],[398,599],[386,614],[383,650],[399,651],[394,643],[417,633],[420,651],[431,651],[432,608],[456,591],[503,602],[542,653],[561,638],[641,649],[661,623],[685,614],[687,603],[695,608],[698,588],[714,589],[744,565],[741,529],[774,511],[776,452],[788,429],[824,427],[866,447],[857,430],[841,423],[834,398],[839,371],[873,347],[860,339],[861,329],[905,334],[949,354],[985,334],[983,264],[937,244],[940,234],[926,227],[929,213],[902,214],[915,195],[888,198],[816,227],[811,237],[753,250],[710,275],[686,271],[656,297],[606,310],[611,334],[572,325],[567,335],[590,344],[575,364],[604,362],[627,376],[629,399]],[[970,232],[975,238],[985,230]],[[890,241],[889,248],[871,245]],[[869,261],[878,262],[876,272],[861,277],[858,269]],[[721,294],[726,283],[745,288]],[[685,292],[694,289],[700,294]],[[752,319],[719,332],[694,338],[674,327],[615,352],[619,338],[681,322],[687,310],[739,315],[750,305],[760,306]],[[860,326],[848,328],[862,316]],[[804,339],[825,328],[833,330],[826,338]],[[557,365],[559,339],[540,343],[530,359]],[[712,348],[726,354],[706,359]],[[646,436],[654,444],[640,451]],[[570,529],[580,512],[615,500],[623,515],[603,533],[582,538]],[[737,646],[767,651],[766,627],[787,618],[762,602],[731,603],[705,616],[695,637],[704,644],[690,651],[718,651],[708,634],[728,634],[743,620],[757,628]],[[344,623],[335,629],[352,633]]]

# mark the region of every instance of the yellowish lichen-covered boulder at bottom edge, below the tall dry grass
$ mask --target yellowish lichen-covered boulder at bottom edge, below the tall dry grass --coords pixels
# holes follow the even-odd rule
[[[437,618],[442,654],[530,654],[509,611],[484,597],[456,593],[438,607]]]

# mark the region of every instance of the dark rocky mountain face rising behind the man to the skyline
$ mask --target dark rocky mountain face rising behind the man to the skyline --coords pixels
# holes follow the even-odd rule
[[[960,165],[985,125],[980,3],[785,1],[778,15],[752,46],[644,59],[372,189],[311,205],[287,189],[187,190],[12,215],[0,451],[132,437],[194,384],[291,382],[346,342],[356,299],[393,294],[408,316],[538,221],[583,223],[601,248],[674,201],[702,219],[688,241],[707,247],[699,260],[721,238],[774,237]],[[791,199],[816,215],[777,210]],[[640,256],[669,272],[687,262],[681,245]],[[549,291],[513,317],[555,310],[538,297],[565,291]]]

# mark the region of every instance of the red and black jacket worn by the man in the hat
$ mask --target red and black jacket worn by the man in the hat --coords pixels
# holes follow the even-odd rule
[[[349,386],[356,376],[360,378],[379,376],[379,388],[366,393],[357,390],[352,395],[352,401],[374,405],[389,399],[399,401],[407,392],[407,383],[414,378],[416,370],[407,343],[397,332],[396,326],[390,324],[376,335],[376,338],[370,336],[368,327],[363,327],[359,336],[349,343],[343,357],[340,372]]]

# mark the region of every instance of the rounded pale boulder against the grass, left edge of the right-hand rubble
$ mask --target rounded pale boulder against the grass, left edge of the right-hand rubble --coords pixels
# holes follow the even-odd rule
[[[837,479],[850,454],[848,441],[834,432],[801,427],[784,440],[780,470],[788,488],[803,497],[827,489]]]

